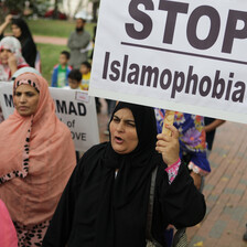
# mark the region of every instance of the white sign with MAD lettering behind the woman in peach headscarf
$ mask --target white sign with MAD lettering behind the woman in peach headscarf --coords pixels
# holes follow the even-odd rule
[[[95,98],[80,90],[50,87],[57,117],[71,129],[77,151],[86,151],[99,143]],[[0,103],[4,118],[14,110],[12,84],[0,84]],[[61,133],[63,135],[63,133]]]

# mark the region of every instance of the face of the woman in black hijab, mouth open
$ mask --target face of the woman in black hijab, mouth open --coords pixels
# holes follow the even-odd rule
[[[130,109],[122,108],[115,112],[110,122],[110,141],[115,152],[126,154],[138,146],[136,122]]]

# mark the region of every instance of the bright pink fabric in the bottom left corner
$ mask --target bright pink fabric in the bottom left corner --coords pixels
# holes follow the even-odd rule
[[[0,200],[0,246],[18,247],[17,232],[4,203]]]

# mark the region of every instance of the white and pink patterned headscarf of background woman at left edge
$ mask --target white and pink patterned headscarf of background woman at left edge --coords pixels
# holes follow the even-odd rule
[[[18,68],[29,66],[21,53],[21,43],[14,36],[6,36],[0,42],[1,50],[10,50],[17,57]],[[8,82],[11,78],[11,71],[9,65],[2,64],[0,60],[0,82]]]

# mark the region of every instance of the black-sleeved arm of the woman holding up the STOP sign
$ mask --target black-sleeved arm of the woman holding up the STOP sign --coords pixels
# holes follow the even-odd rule
[[[159,195],[165,222],[176,228],[198,224],[206,213],[205,200],[195,187],[184,163],[180,165],[174,181],[170,185],[165,184],[163,183]]]

